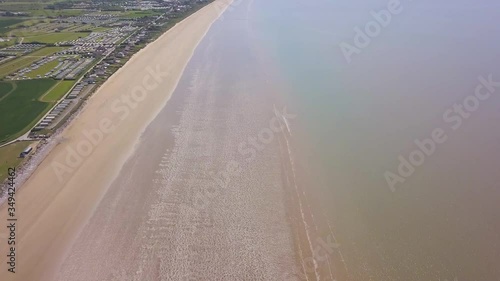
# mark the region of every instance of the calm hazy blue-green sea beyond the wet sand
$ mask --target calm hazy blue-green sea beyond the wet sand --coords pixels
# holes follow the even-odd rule
[[[247,22],[287,83],[303,189],[334,226],[349,280],[500,280],[500,98],[457,130],[443,119],[479,76],[500,81],[500,5],[401,1],[348,63],[339,44],[389,2],[243,1],[225,24]],[[435,129],[446,141],[391,192],[384,173]]]

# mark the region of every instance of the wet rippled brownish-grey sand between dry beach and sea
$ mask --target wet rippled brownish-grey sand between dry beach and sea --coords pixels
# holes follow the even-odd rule
[[[259,138],[283,110],[232,18],[204,38],[55,280],[299,279],[287,131]]]

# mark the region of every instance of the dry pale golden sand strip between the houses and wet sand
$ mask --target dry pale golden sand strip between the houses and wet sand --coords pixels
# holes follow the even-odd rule
[[[16,273],[9,273],[2,262],[1,280],[54,280],[70,245],[145,126],[169,100],[194,50],[227,3],[216,1],[179,23],[93,95],[16,194]],[[0,209],[2,223],[6,207]],[[7,243],[2,243],[0,253],[5,257],[6,252]]]

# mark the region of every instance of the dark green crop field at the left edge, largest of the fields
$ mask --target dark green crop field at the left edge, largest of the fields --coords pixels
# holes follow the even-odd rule
[[[36,124],[52,105],[39,98],[56,83],[52,79],[15,82],[16,89],[0,101],[0,143],[21,136]]]

